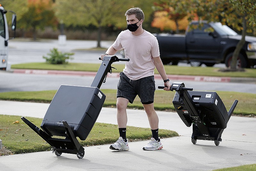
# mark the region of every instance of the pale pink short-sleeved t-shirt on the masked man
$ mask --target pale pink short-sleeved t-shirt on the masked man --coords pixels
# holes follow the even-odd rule
[[[134,36],[129,30],[122,31],[116,38],[112,47],[116,50],[124,49],[124,74],[131,80],[154,75],[154,57],[160,56],[156,37],[144,30],[140,36]]]

